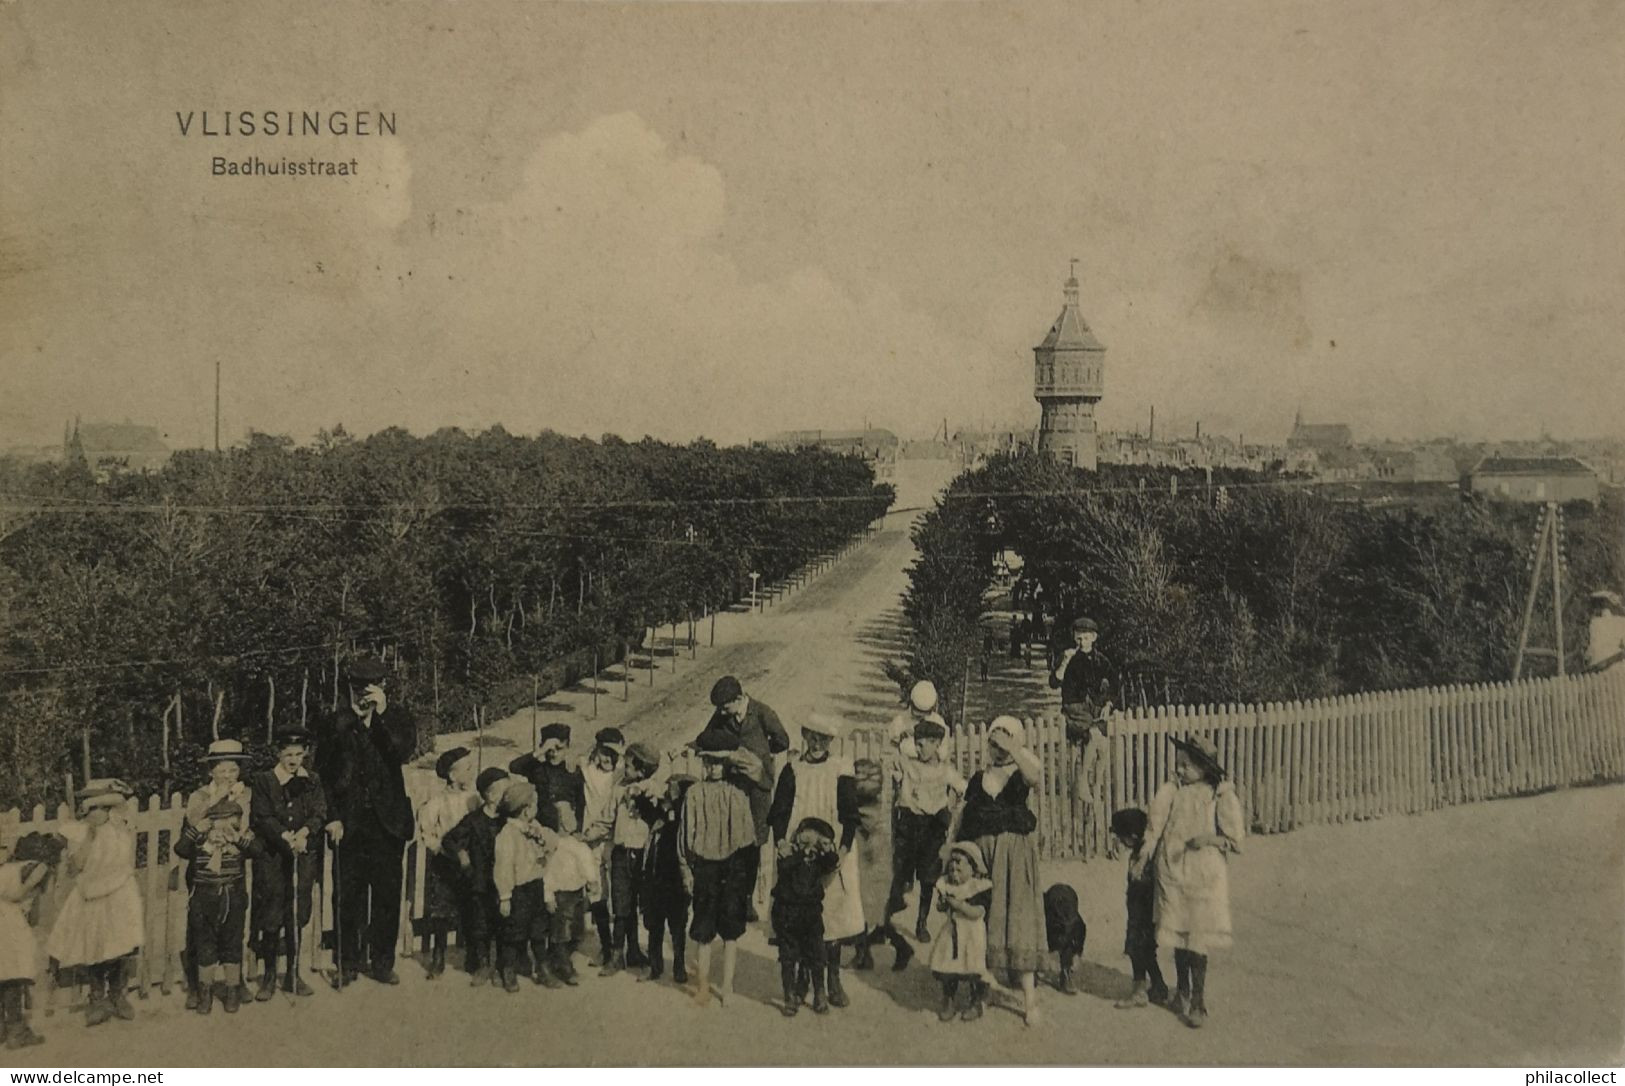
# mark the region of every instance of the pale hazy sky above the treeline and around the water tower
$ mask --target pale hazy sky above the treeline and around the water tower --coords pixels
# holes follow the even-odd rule
[[[1103,428],[1625,436],[1618,2],[0,0],[0,445],[1032,426],[1074,257]]]

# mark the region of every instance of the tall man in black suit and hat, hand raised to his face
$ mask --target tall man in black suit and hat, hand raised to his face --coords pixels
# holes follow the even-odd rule
[[[328,839],[336,845],[336,894],[343,946],[340,984],[369,967],[380,984],[395,975],[400,935],[401,871],[413,834],[411,800],[401,766],[418,745],[416,728],[392,706],[388,671],[379,660],[349,668],[349,709],[341,709],[318,735],[317,769],[327,785]],[[362,948],[362,933],[367,946]]]

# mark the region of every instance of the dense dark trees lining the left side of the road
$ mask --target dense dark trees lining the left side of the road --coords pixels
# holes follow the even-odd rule
[[[0,806],[62,774],[143,790],[197,743],[265,736],[379,652],[421,732],[473,727],[728,606],[892,501],[816,450],[341,428],[255,434],[98,481],[0,470]]]

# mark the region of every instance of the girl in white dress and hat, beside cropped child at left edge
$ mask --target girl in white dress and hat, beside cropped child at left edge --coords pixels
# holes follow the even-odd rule
[[[50,928],[46,953],[63,967],[88,966],[88,1026],[101,1026],[115,1014],[135,1018],[125,998],[125,977],[128,958],[145,938],[145,915],[135,884],[135,832],[124,818],[132,795],[122,780],[91,780],[78,793],[81,821],[60,828],[68,841],[73,886]]]

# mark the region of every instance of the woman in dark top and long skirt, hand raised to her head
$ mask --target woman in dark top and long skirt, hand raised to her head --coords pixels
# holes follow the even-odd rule
[[[982,849],[993,883],[988,907],[988,969],[1020,984],[1022,1018],[1038,1024],[1034,980],[1048,945],[1043,886],[1038,880],[1038,819],[1027,793],[1038,784],[1038,758],[1027,749],[1020,720],[996,717],[988,725],[988,766],[965,790],[956,841]]]

